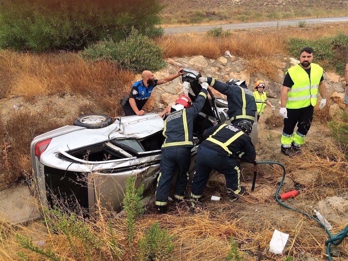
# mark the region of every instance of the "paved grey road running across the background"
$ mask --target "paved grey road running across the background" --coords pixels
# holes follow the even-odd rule
[[[348,17],[331,17],[331,18],[311,18],[311,19],[294,19],[282,21],[268,21],[257,23],[242,23],[242,24],[226,24],[226,25],[203,25],[203,26],[185,26],[165,28],[165,34],[176,33],[199,33],[206,32],[215,27],[222,27],[223,30],[264,28],[264,27],[279,27],[279,26],[298,26],[300,21],[306,21],[307,24],[324,24],[324,23],[342,23],[348,22]]]

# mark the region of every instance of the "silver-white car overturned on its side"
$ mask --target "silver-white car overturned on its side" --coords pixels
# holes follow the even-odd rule
[[[195,100],[201,86],[200,75],[183,70],[183,81],[190,82],[190,98]],[[195,155],[208,127],[225,122],[227,101],[210,98],[194,122],[195,145],[191,153],[191,174]],[[74,209],[78,204],[86,214],[97,205],[118,210],[124,198],[125,180],[136,177],[136,185],[154,192],[159,173],[163,119],[156,113],[118,117],[112,122],[102,114],[77,118],[75,125],[51,130],[34,138],[31,143],[31,163],[43,204],[65,204]],[[256,144],[257,120],[251,138]]]

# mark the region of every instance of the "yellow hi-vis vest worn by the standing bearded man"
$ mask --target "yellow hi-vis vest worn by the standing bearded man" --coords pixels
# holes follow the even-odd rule
[[[311,63],[311,77],[297,64],[287,70],[287,73],[294,82],[288,92],[286,108],[299,109],[312,104],[317,104],[318,87],[323,75],[323,69],[315,63]]]

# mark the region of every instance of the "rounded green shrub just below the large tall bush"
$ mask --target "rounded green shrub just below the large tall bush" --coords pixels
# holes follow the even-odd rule
[[[136,73],[158,71],[166,65],[161,48],[137,30],[119,43],[110,40],[93,44],[82,51],[81,56],[93,61],[107,59],[117,63],[120,68]]]

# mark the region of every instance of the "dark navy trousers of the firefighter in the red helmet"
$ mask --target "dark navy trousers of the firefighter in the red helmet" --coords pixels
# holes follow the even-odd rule
[[[159,176],[157,179],[156,202],[157,206],[167,205],[171,180],[175,169],[178,168],[178,177],[175,185],[174,197],[184,199],[189,167],[191,162],[191,148],[172,147],[162,150]]]

